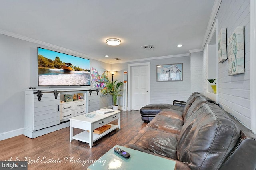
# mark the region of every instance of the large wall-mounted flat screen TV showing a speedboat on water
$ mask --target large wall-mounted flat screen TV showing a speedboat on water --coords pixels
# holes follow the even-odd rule
[[[44,48],[38,51],[38,86],[90,86],[90,60]]]

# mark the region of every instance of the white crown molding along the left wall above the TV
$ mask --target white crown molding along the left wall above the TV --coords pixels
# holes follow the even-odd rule
[[[28,38],[28,37],[22,36],[20,34],[16,34],[16,33],[13,33],[13,32],[8,32],[6,30],[1,30],[0,29],[0,34],[4,34],[6,36],[11,36],[11,37],[14,37],[14,38],[18,38],[20,40],[25,40],[25,41],[28,41],[28,42],[36,43],[36,44],[39,44],[39,45],[44,45],[44,46],[51,47],[51,48],[54,48],[54,49],[59,49],[59,50],[62,50],[62,51],[74,54],[74,55],[76,55],[78,57],[86,57],[86,58],[89,58],[89,59],[94,59],[94,60],[97,60],[97,61],[101,61],[101,62],[104,62],[104,63],[111,64],[108,61],[103,61],[101,59],[96,59],[96,58],[91,57],[90,55],[86,55],[84,53],[79,53],[77,51],[66,49],[66,48],[63,48],[63,47],[60,47],[60,46],[57,46],[57,45],[53,45],[53,44],[50,44],[50,43],[46,43],[46,42],[42,42],[42,41],[39,41],[39,40],[35,40],[33,38]]]

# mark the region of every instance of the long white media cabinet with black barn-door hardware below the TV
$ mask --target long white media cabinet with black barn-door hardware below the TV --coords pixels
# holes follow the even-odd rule
[[[83,94],[83,99],[65,101],[64,95]],[[24,136],[36,138],[69,127],[68,118],[98,110],[97,88],[25,89]]]

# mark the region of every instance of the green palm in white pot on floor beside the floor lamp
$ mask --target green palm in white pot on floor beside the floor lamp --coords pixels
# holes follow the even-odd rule
[[[123,90],[123,89],[121,89],[123,84],[124,83],[122,81],[117,82],[117,80],[115,80],[114,82],[111,82],[111,81],[109,81],[109,79],[106,82],[105,94],[112,95],[112,97],[113,97],[113,109],[114,110],[118,110],[118,105],[116,104],[116,102],[117,102],[117,97],[122,96],[120,94],[120,91]]]

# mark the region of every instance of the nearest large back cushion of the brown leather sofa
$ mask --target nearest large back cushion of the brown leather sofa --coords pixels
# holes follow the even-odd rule
[[[178,160],[191,169],[219,169],[239,136],[236,123],[218,105],[202,103],[181,129]]]

